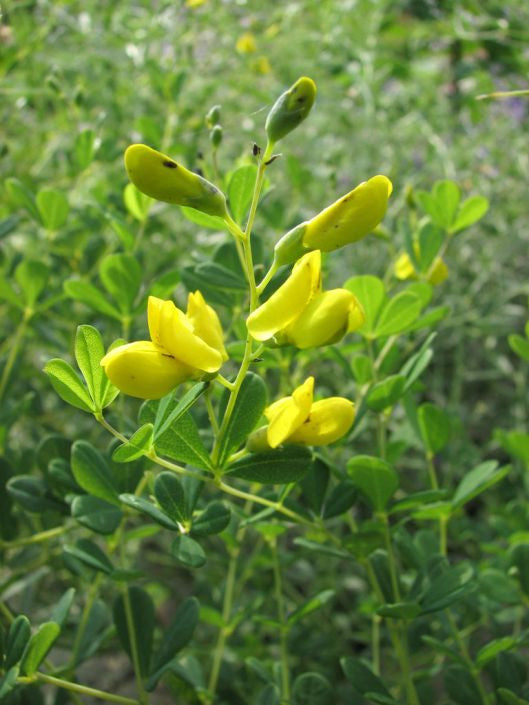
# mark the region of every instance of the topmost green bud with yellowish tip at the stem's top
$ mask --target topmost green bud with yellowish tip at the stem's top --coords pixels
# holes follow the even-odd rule
[[[316,97],[316,84],[302,76],[274,103],[266,118],[265,130],[274,144],[292,132],[307,117]]]

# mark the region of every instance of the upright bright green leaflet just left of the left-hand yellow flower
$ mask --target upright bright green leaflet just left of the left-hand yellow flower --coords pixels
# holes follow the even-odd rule
[[[104,355],[105,348],[99,331],[93,326],[78,326],[75,336],[75,359],[97,411],[108,406],[108,398],[114,391],[114,398],[119,394],[119,390],[110,383],[101,366]]]

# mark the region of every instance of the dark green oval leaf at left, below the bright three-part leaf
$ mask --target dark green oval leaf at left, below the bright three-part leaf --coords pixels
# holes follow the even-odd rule
[[[118,491],[101,453],[87,441],[75,441],[71,456],[72,473],[88,494],[119,506]]]

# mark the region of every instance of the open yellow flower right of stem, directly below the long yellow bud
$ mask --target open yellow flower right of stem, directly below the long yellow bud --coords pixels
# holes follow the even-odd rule
[[[274,339],[303,350],[335,343],[364,320],[350,291],[321,291],[321,252],[315,250],[296,262],[286,282],[250,314],[247,326],[255,340]]]

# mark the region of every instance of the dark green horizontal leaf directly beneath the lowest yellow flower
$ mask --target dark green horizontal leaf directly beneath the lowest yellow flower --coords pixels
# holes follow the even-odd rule
[[[301,480],[311,464],[308,448],[285,446],[240,458],[229,466],[227,475],[263,485],[283,485]]]

